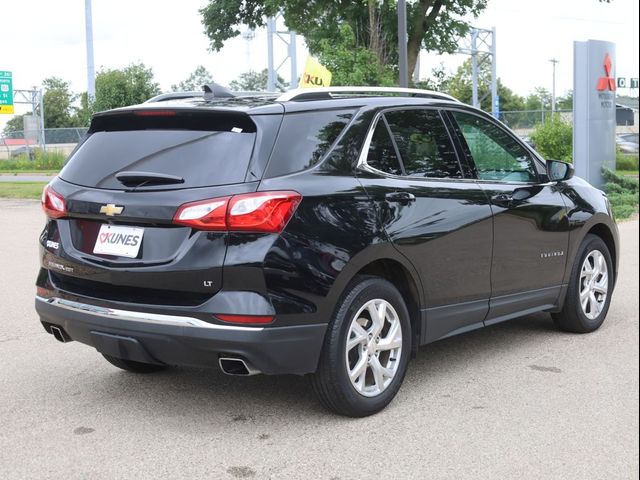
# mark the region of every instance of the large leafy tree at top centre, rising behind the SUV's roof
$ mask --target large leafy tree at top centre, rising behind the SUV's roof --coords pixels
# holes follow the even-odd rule
[[[407,4],[407,51],[409,71],[416,65],[421,48],[452,53],[458,38],[469,29],[469,21],[487,6],[487,0],[417,0]],[[322,40],[341,37],[351,27],[355,46],[370,50],[382,66],[398,63],[396,0],[209,0],[200,10],[211,49],[240,35],[240,24],[264,26],[266,17],[284,13],[288,28],[304,35],[312,54],[319,54]],[[333,72],[334,74],[336,72]]]

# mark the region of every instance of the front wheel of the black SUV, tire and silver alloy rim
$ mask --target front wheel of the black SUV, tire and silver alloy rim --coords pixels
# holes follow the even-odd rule
[[[590,269],[595,273],[590,273]],[[607,245],[600,237],[587,235],[571,270],[564,306],[560,312],[552,314],[555,324],[562,330],[574,333],[589,333],[600,328],[609,311],[614,275]],[[588,295],[584,295],[585,292]]]

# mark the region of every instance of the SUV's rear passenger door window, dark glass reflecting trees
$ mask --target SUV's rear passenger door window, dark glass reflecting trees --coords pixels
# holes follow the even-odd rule
[[[405,175],[462,178],[449,134],[434,110],[397,110],[384,114],[400,153]]]

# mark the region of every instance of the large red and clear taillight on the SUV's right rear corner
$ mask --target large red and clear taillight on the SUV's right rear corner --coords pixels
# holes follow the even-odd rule
[[[200,230],[280,233],[301,200],[292,191],[213,198],[182,205],[173,223]]]

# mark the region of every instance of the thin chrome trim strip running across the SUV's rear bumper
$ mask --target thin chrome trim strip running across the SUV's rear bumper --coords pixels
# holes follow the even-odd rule
[[[76,312],[86,312],[105,318],[115,318],[117,320],[127,320],[130,322],[154,323],[158,325],[174,325],[180,327],[210,328],[213,330],[234,330],[240,332],[260,332],[264,327],[237,327],[235,325],[216,325],[205,322],[199,318],[181,317],[177,315],[162,315],[159,313],[133,312],[130,310],[117,310],[113,308],[97,307],[86,303],[72,302],[63,298],[44,298],[36,296],[36,300],[59,308],[73,310]]]

